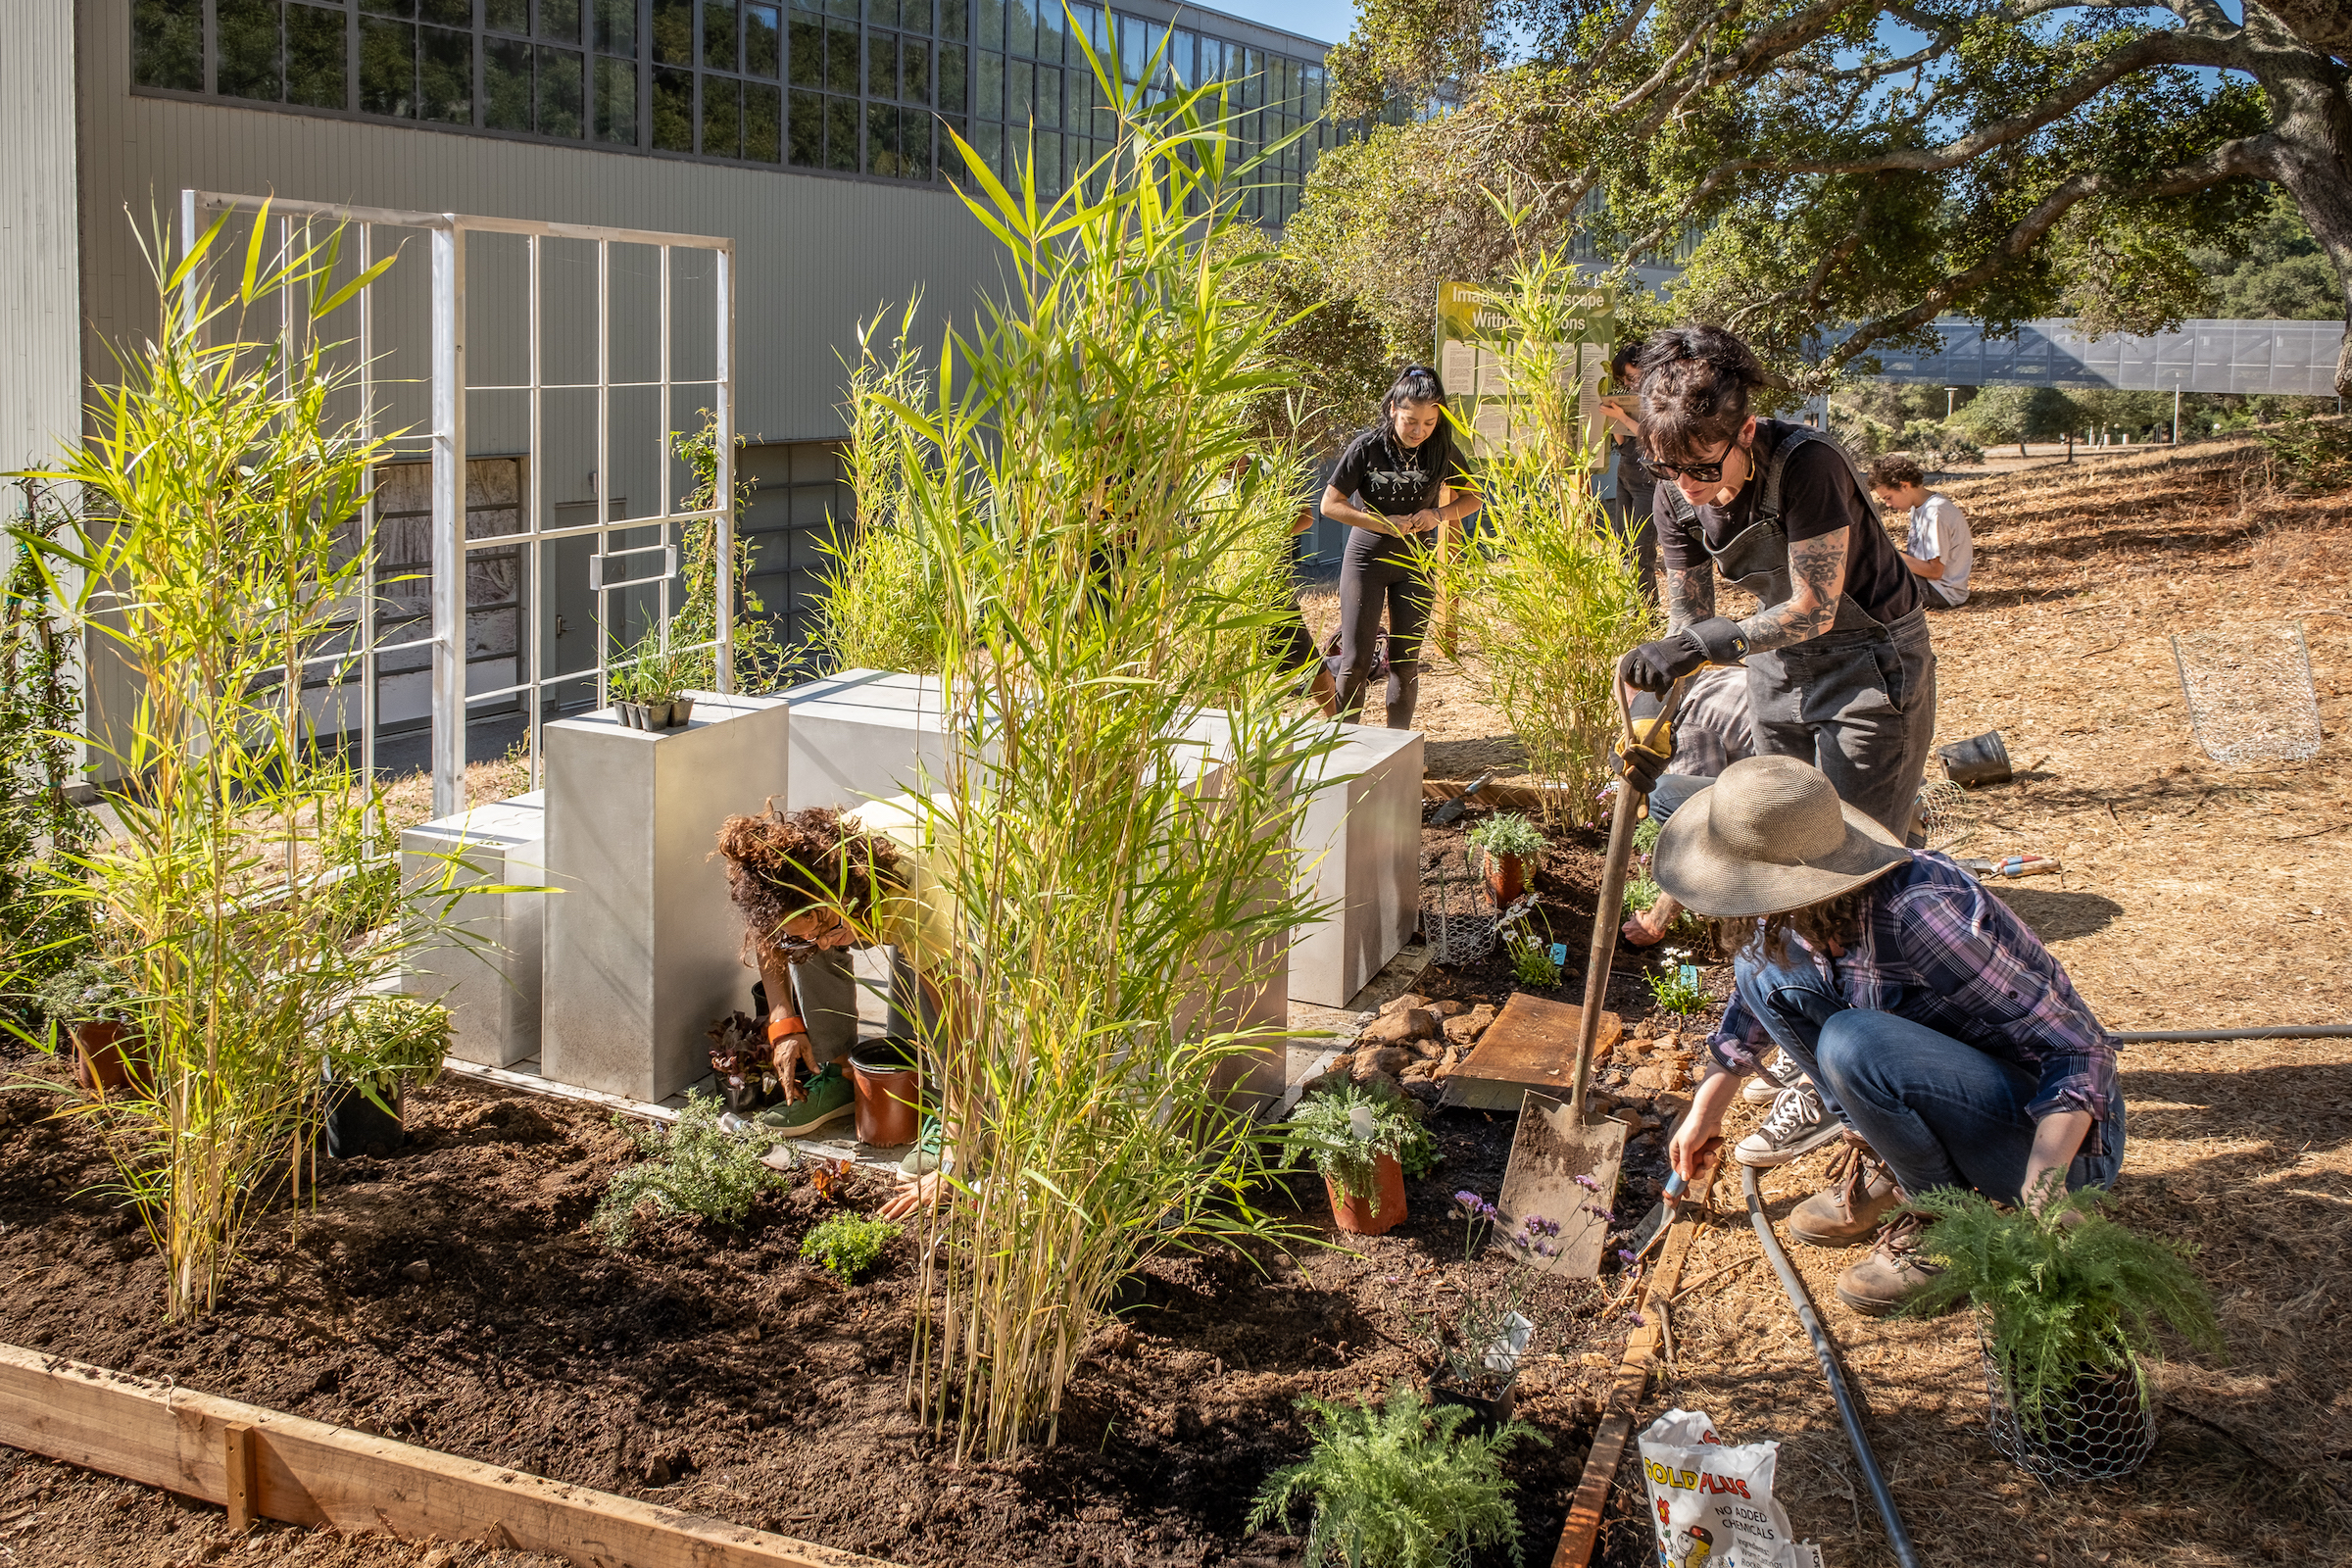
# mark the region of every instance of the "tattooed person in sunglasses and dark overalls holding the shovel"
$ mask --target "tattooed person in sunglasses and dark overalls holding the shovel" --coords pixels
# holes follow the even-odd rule
[[[1642,444],[1658,475],[1668,635],[1618,675],[1665,691],[1703,663],[1748,663],[1755,748],[1830,776],[1896,839],[1936,736],[1936,651],[1870,484],[1830,435],[1748,411],[1755,353],[1719,327],[1642,346]],[[1715,614],[1715,576],[1764,607]]]

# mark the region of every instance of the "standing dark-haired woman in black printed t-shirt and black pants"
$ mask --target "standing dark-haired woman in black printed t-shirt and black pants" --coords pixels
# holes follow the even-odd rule
[[[1352,524],[1338,571],[1338,717],[1355,724],[1371,679],[1371,644],[1388,607],[1388,726],[1411,729],[1421,698],[1421,637],[1435,592],[1406,541],[1479,508],[1446,421],[1446,388],[1428,364],[1406,364],[1381,402],[1381,423],[1341,454],[1322,515]],[[1451,496],[1446,494],[1451,491]]]

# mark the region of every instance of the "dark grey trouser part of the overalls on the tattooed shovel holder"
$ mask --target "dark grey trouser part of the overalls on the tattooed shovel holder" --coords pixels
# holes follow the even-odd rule
[[[1936,741],[1926,611],[1748,656],[1757,755],[1811,762],[1837,799],[1903,839]]]

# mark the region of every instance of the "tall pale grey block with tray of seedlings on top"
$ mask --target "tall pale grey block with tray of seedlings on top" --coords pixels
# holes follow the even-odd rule
[[[541,1072],[663,1100],[710,1072],[703,1030],[750,994],[720,823],[786,792],[783,698],[694,693],[684,729],[612,710],[546,726]]]

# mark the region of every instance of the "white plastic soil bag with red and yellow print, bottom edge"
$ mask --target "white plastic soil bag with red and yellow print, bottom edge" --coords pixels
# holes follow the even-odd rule
[[[1771,1497],[1780,1443],[1726,1448],[1705,1410],[1668,1410],[1642,1432],[1642,1474],[1665,1568],[1820,1568],[1788,1537]]]

